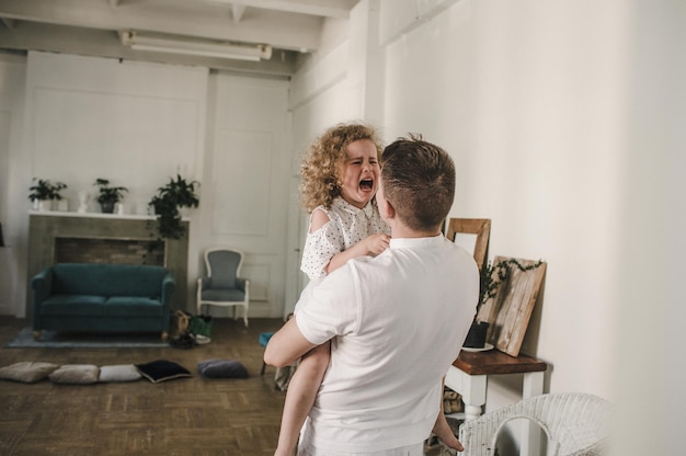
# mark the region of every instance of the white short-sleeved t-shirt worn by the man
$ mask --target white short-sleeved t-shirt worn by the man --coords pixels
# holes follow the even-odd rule
[[[302,438],[344,452],[427,438],[478,295],[473,258],[443,236],[391,239],[378,256],[311,282],[296,322],[311,343],[332,343]]]

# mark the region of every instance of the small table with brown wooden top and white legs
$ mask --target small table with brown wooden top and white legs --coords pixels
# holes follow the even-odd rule
[[[535,357],[519,355],[510,356],[495,349],[488,352],[461,351],[457,360],[448,368],[445,385],[462,395],[465,402],[465,420],[471,421],[481,414],[485,403],[485,390],[489,375],[524,374],[522,398],[530,398],[544,394],[544,374],[548,365]],[[540,442],[537,426],[530,426],[528,435],[522,442],[521,454],[538,455],[539,445],[529,447],[530,442]]]

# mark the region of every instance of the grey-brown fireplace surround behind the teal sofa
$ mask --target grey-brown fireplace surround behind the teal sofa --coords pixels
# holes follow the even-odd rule
[[[73,249],[78,249],[79,240],[87,243],[92,241],[116,241],[123,246],[123,254],[130,250],[127,243],[148,243],[157,240],[156,217],[145,215],[118,215],[101,213],[73,213],[57,210],[28,212],[28,281],[44,267],[56,262],[57,243],[67,239]],[[163,240],[162,263],[174,273],[176,288],[172,295],[174,309],[184,309],[187,289],[187,259],[188,259],[188,229],[190,221],[182,221],[185,236],[181,239]],[[76,244],[75,244],[76,242]],[[136,260],[134,260],[136,261]],[[91,262],[91,261],[89,261]],[[96,258],[92,262],[116,263],[112,258]],[[127,263],[132,263],[129,259]],[[144,262],[134,264],[145,264]],[[27,317],[33,316],[33,290],[27,284]]]

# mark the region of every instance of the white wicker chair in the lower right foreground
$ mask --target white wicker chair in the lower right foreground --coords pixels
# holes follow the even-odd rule
[[[492,456],[503,426],[516,419],[538,424],[548,437],[548,456],[604,454],[609,437],[609,403],[586,394],[554,394],[524,399],[489,412],[459,429],[464,456]],[[445,453],[444,453],[445,454]]]

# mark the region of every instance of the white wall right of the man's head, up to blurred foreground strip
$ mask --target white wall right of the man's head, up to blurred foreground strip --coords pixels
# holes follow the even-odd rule
[[[548,262],[525,351],[550,363],[550,391],[614,394],[628,45],[617,13],[462,0],[387,46],[388,138],[422,133],[453,155],[450,216],[492,219],[491,258]],[[516,400],[511,389],[492,383],[489,408]]]

